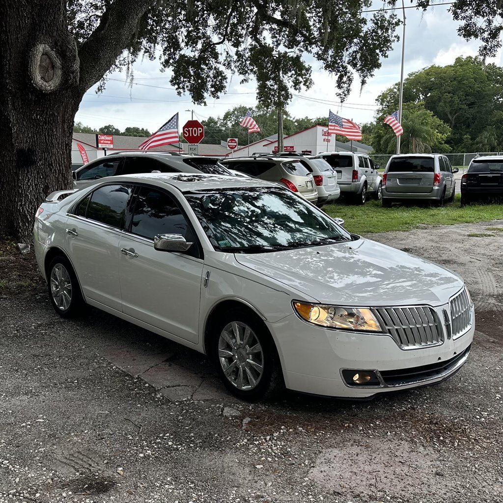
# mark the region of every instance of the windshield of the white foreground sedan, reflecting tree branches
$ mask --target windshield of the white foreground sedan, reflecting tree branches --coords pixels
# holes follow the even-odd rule
[[[280,188],[204,190],[185,197],[219,251],[266,253],[352,240],[325,213]]]

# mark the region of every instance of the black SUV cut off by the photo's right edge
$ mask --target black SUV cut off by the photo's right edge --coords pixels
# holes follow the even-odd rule
[[[503,156],[484,155],[470,162],[461,177],[461,206],[503,197]]]

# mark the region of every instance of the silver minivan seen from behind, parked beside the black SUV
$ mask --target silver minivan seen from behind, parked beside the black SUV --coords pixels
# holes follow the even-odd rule
[[[423,200],[443,206],[454,200],[458,171],[442,154],[392,155],[382,177],[382,205]]]

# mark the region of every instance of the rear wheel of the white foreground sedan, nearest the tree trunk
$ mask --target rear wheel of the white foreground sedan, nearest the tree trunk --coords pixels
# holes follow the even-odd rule
[[[80,286],[69,260],[54,257],[47,268],[47,291],[52,307],[62,318],[76,318],[87,311]]]

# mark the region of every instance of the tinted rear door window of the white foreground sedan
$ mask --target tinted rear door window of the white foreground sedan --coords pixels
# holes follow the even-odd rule
[[[130,185],[100,187],[91,196],[87,217],[121,229],[124,226],[130,194]]]

